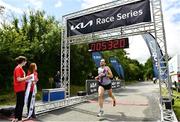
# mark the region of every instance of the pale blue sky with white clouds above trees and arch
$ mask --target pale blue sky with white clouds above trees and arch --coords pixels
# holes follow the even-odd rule
[[[55,16],[59,21],[62,16],[83,10],[89,7],[111,2],[113,0],[0,0],[0,5],[5,6],[5,13],[13,13],[21,17],[29,9],[44,10],[47,15]],[[180,54],[180,0],[161,0],[167,41],[167,51],[170,56]],[[6,18],[12,16],[7,14]],[[2,16],[0,16],[0,22]],[[129,37],[130,47],[126,49],[129,57],[137,59],[144,64],[150,57],[149,50],[142,37]]]

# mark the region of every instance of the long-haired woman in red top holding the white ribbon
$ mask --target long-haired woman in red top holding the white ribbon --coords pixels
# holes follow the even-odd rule
[[[34,85],[38,81],[38,73],[37,73],[37,65],[36,65],[36,63],[31,63],[30,66],[29,66],[27,75],[30,76],[31,74],[34,74],[34,81],[31,84],[29,98],[28,98],[28,105],[27,105],[28,113],[29,113],[29,109],[30,109],[31,98],[32,98],[32,95],[33,95],[33,90],[35,88]],[[27,83],[27,85],[28,85],[28,83]],[[35,116],[35,106],[33,107],[33,113],[31,115],[31,117],[32,118],[36,118],[36,116]]]

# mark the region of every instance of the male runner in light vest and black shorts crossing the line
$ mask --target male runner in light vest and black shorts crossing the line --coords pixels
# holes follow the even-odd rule
[[[98,76],[95,77],[95,80],[99,82],[99,87],[98,87],[98,103],[99,103],[99,113],[98,117],[102,116],[104,114],[103,111],[103,95],[104,91],[108,90],[109,97],[112,98],[112,105],[116,106],[116,99],[112,93],[112,86],[111,86],[111,79],[113,78],[113,74],[111,69],[106,66],[106,62],[104,59],[101,59],[100,61],[100,67],[98,68]]]

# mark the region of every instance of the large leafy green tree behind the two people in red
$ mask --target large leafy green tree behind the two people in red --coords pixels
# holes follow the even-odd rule
[[[43,11],[29,11],[21,19],[13,17],[0,28],[0,82],[12,88],[14,59],[25,55],[38,65],[40,85],[48,87],[49,77],[60,69],[60,24]],[[28,65],[25,67],[27,70]]]

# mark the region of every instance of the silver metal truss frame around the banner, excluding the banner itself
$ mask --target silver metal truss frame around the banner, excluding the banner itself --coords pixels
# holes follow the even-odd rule
[[[71,14],[63,16],[63,29],[61,39],[61,82],[66,89],[66,96],[70,96],[70,45],[91,43],[96,41],[105,41],[111,39],[120,39],[128,36],[142,35],[145,33],[154,33],[157,43],[162,50],[163,56],[158,55],[158,70],[159,70],[159,89],[160,89],[160,109],[161,109],[161,121],[174,121],[174,112],[171,109],[165,108],[166,102],[171,102],[171,83],[168,71],[168,54],[165,37],[165,29],[163,22],[163,13],[161,0],[150,0],[151,3],[151,16],[153,20],[151,22],[138,23],[130,26],[122,26],[114,29],[103,30],[99,32],[93,32],[90,34],[82,34],[76,36],[67,37],[67,20],[80,17],[83,15],[99,12],[105,9],[125,5],[141,0],[116,0],[110,3],[102,4],[96,7],[88,8]],[[98,36],[97,36],[98,35]],[[156,50],[158,49],[158,45]],[[156,51],[157,52],[157,51]],[[164,60],[165,59],[165,60]],[[164,64],[164,67],[161,66]],[[163,75],[167,73],[167,78],[164,79]],[[163,89],[167,91],[167,94],[163,95]]]

